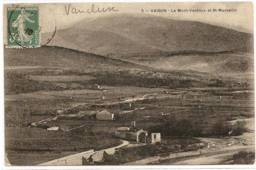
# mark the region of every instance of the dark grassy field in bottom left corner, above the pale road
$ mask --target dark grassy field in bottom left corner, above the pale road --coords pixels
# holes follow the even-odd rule
[[[101,150],[120,144],[106,136],[73,132],[53,132],[41,128],[5,128],[5,152],[12,165],[37,165],[94,149]]]

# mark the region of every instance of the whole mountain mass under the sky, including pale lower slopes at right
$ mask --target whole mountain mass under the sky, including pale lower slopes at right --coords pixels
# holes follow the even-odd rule
[[[121,13],[83,20],[58,30],[49,45],[156,69],[244,72],[253,68],[253,34],[149,14]],[[230,62],[233,59],[238,61],[236,67]]]

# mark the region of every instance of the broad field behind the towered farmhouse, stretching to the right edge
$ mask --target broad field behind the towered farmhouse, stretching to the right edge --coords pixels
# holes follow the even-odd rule
[[[127,89],[133,87],[127,87]],[[125,96],[125,90],[123,96]],[[141,95],[148,88],[141,89]],[[149,89],[151,90],[153,89]],[[114,91],[114,90],[113,90]],[[118,91],[118,88],[116,89]],[[111,92],[111,91],[110,91]],[[159,91],[158,91],[159,92]],[[98,93],[97,93],[98,94]],[[113,93],[119,95],[118,93]],[[197,92],[195,92],[197,94]],[[137,126],[143,129],[149,129],[150,126],[158,126],[163,123],[171,123],[175,125],[181,119],[190,120],[191,123],[203,127],[203,131],[210,131],[214,124],[218,122],[226,122],[237,118],[254,117],[254,103],[251,97],[236,96],[236,93],[220,96],[206,95],[195,98],[192,93],[189,96],[180,99],[181,95],[170,95],[166,99],[154,99],[153,101],[145,100],[132,103],[132,107],[127,104],[117,104],[115,106],[106,106],[94,109],[103,109],[113,112],[118,115],[115,121],[102,120],[52,120],[47,122],[49,126],[61,126],[65,129],[85,125],[88,131],[96,134],[106,133],[114,134],[115,129],[119,126],[130,126],[131,120],[137,120]],[[162,95],[162,94],[160,94]],[[95,96],[95,94],[94,94]],[[201,101],[202,100],[202,101]],[[131,110],[134,108],[146,107],[143,110],[135,110],[127,114],[119,114],[123,110]],[[83,108],[81,108],[83,110]],[[84,107],[90,109],[90,106]],[[166,115],[162,115],[166,114]]]

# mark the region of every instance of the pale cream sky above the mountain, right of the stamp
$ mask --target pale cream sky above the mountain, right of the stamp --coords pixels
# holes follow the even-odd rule
[[[235,29],[246,33],[253,33],[253,5],[249,2],[172,2],[172,3],[71,3],[69,14],[66,14],[69,4],[40,4],[41,7],[41,33],[52,32],[57,29],[65,29],[84,19],[92,20],[97,17],[105,17],[114,13],[143,13],[157,15],[174,20],[199,21],[215,26]],[[76,10],[87,11],[94,5],[95,9],[113,7],[118,11],[105,13],[78,13],[72,14],[73,7]],[[163,13],[151,12],[151,9],[170,10]],[[201,9],[206,12],[171,12],[178,9]],[[213,9],[235,9],[236,12],[208,12]],[[148,10],[148,11],[146,11]]]

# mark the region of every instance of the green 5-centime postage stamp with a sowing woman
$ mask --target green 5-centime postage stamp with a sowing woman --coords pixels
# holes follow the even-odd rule
[[[39,47],[39,6],[5,6],[6,47]]]

